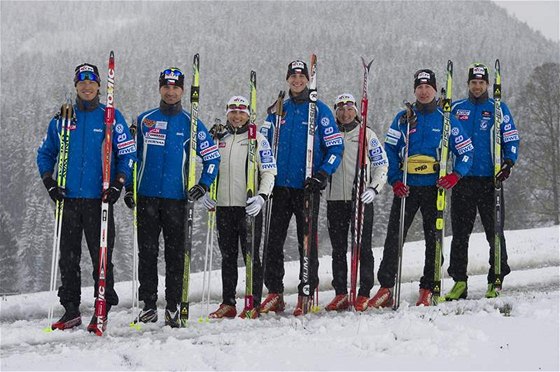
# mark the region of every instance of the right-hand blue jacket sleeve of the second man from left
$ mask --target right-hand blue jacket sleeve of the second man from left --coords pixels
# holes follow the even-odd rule
[[[196,152],[202,158],[202,173],[198,183],[210,187],[220,168],[220,151],[200,119],[197,122]],[[188,141],[187,141],[188,144]],[[188,154],[188,152],[187,152]]]

